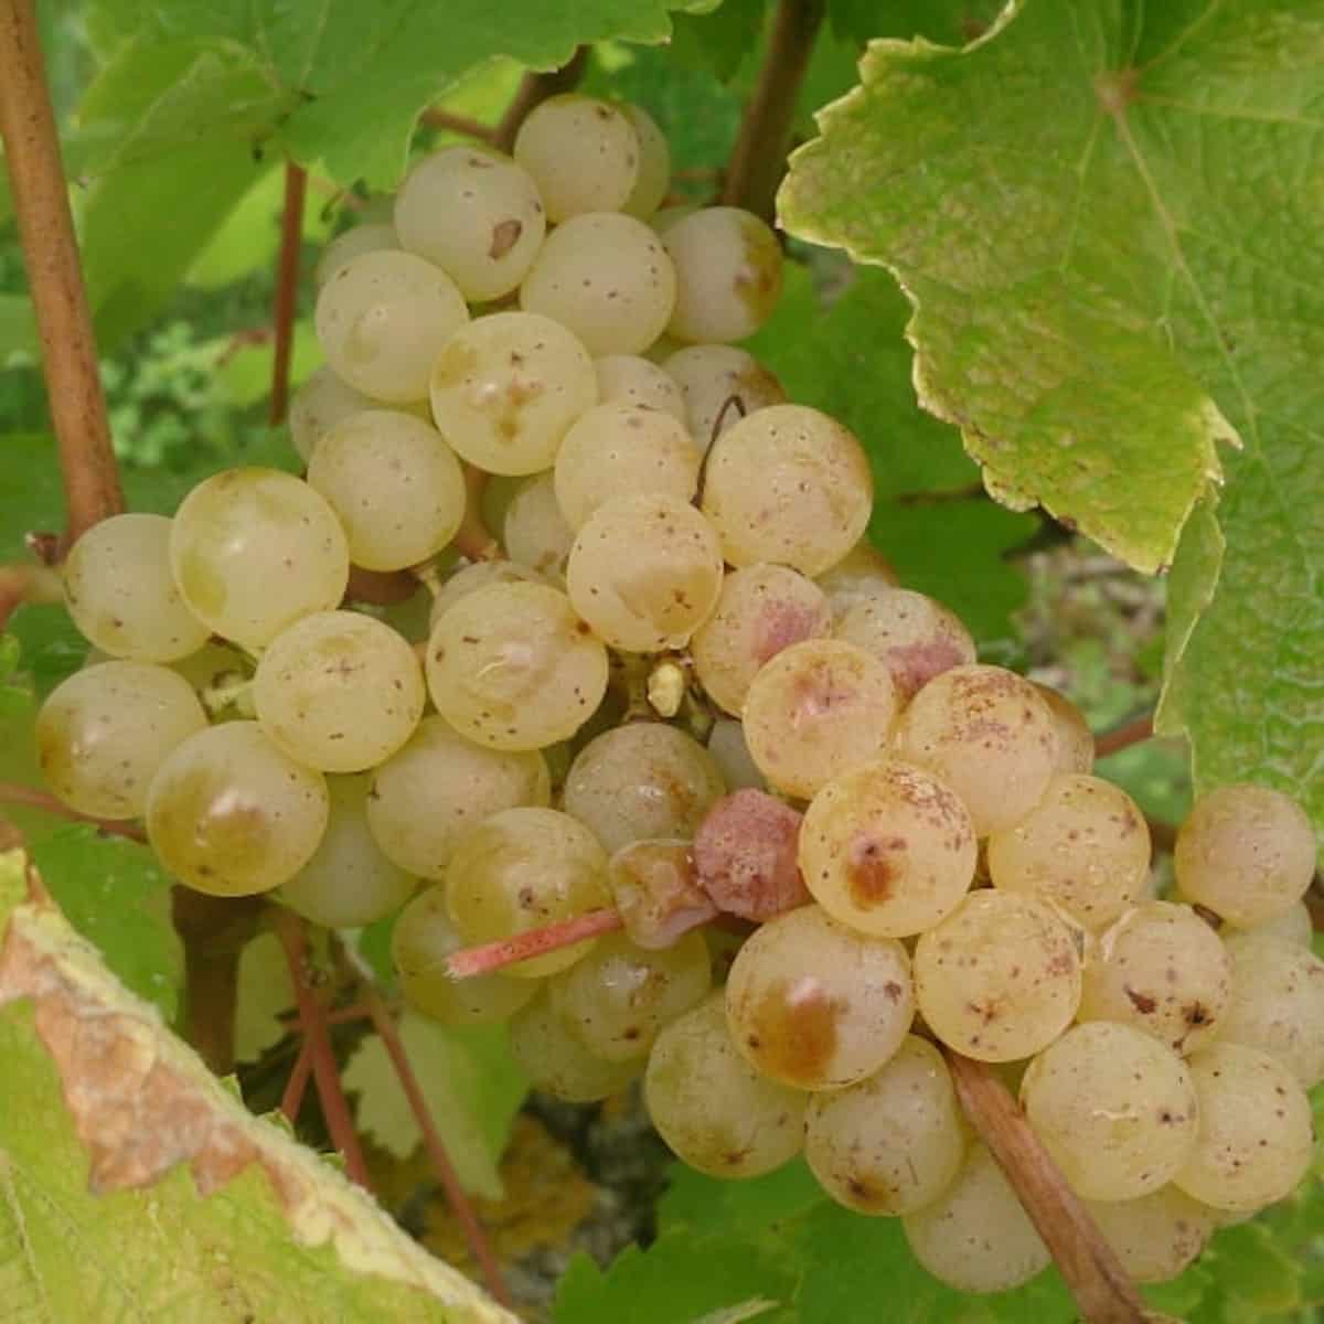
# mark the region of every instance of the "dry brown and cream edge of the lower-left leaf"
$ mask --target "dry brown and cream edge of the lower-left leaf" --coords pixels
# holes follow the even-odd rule
[[[16,866],[26,899],[5,915],[4,875]],[[119,985],[19,850],[0,854],[0,1008],[20,998],[33,1005],[90,1155],[93,1194],[151,1186],[183,1162],[205,1197],[257,1164],[302,1245],[331,1241],[348,1270],[426,1291],[465,1324],[515,1324],[331,1165],[249,1113],[155,1008]]]

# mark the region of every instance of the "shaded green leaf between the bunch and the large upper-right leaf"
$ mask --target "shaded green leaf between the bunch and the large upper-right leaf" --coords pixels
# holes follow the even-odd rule
[[[792,400],[826,410],[863,442],[874,470],[870,538],[902,583],[952,608],[988,661],[1014,661],[1012,614],[1027,584],[1004,553],[1037,522],[988,500],[956,429],[919,408],[896,282],[863,269],[824,311],[801,265],[788,263],[786,277],[777,311],[748,350]]]

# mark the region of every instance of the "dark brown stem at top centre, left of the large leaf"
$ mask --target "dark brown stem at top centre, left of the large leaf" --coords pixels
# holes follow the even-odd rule
[[[825,0],[780,0],[768,37],[768,53],[745,106],[731,151],[722,201],[743,207],[765,221],[777,211],[777,187],[786,172],[796,97],[809,69]]]

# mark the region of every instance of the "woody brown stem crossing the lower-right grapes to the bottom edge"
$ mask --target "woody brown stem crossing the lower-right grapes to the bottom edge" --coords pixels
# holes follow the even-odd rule
[[[984,1062],[947,1047],[943,1054],[965,1115],[1006,1173],[1082,1316],[1088,1324],[1143,1324],[1148,1316],[1135,1284],[1006,1086]]]

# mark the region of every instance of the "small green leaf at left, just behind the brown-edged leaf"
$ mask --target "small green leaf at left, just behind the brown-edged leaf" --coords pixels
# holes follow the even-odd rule
[[[171,879],[138,842],[66,824],[32,839],[32,862],[77,932],[124,988],[167,1021],[179,1009],[184,953],[171,924]]]

